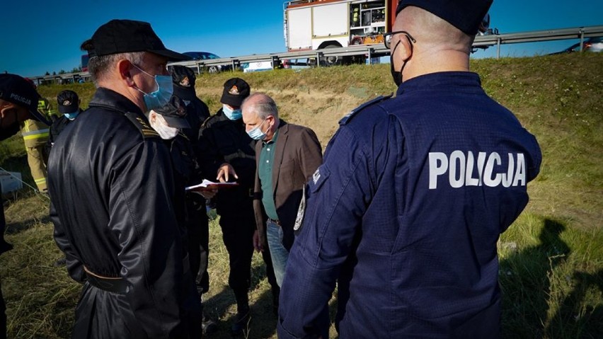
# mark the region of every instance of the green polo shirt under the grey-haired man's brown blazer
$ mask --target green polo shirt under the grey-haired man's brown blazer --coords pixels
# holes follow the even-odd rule
[[[260,176],[260,183],[262,185],[262,204],[266,211],[266,215],[270,219],[278,220],[278,214],[276,213],[275,198],[272,188],[272,163],[275,159],[276,151],[276,140],[278,137],[278,130],[272,136],[269,142],[262,142],[262,151],[260,152],[260,163],[258,166],[258,175]]]

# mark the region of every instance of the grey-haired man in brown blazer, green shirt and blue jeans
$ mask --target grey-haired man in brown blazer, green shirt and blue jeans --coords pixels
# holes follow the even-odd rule
[[[243,101],[241,109],[247,133],[259,141],[255,144],[253,200],[258,229],[253,245],[257,251],[264,251],[268,245],[281,286],[303,188],[322,162],[321,144],[308,127],[280,120],[270,96],[253,93]]]

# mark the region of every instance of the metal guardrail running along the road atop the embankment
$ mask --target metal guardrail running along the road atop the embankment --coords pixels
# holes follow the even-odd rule
[[[576,28],[561,28],[555,30],[536,30],[522,33],[478,35],[473,41],[473,47],[487,48],[496,46],[496,57],[498,59],[500,58],[500,45],[521,42],[542,42],[551,40],[580,39],[580,46],[582,46],[585,38],[598,36],[603,36],[603,25]],[[220,59],[173,62],[169,65],[180,64],[186,67],[197,69],[197,73],[201,73],[202,71],[205,71],[212,66],[230,66],[232,67],[231,69],[239,69],[242,64],[249,62],[272,62],[272,67],[274,68],[275,65],[277,65],[277,63],[282,60],[315,58],[317,60],[316,65],[321,66],[321,60],[325,60],[328,57],[366,56],[370,62],[371,58],[373,57],[384,57],[386,55],[389,55],[389,49],[387,49],[383,45],[383,43],[379,43],[374,45],[350,45],[348,47],[328,48],[323,50],[303,50],[268,54],[251,54],[244,55],[241,57],[226,57]],[[79,79],[84,79],[84,81],[88,81],[88,79],[90,79],[90,74],[88,74],[88,72],[64,73],[48,76],[34,76],[30,79],[35,81],[37,84],[47,83],[51,81],[53,83],[58,82],[59,84],[62,84],[64,81],[75,82],[79,81]]]

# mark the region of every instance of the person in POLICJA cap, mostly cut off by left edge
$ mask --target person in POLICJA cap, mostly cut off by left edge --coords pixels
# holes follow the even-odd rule
[[[40,94],[25,78],[16,74],[0,74],[0,141],[19,132],[20,123],[35,119],[50,125],[38,112]],[[2,192],[0,187],[0,193]],[[4,240],[4,202],[0,194],[0,255],[13,246]],[[0,338],[6,338],[6,305],[0,286]]]

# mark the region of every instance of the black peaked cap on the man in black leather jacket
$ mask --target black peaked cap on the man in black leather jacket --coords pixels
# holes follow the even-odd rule
[[[90,57],[127,52],[151,52],[166,57],[169,61],[190,59],[185,54],[168,50],[151,28],[151,24],[144,21],[122,19],[109,21],[101,25],[92,38],[82,46],[88,50]]]

